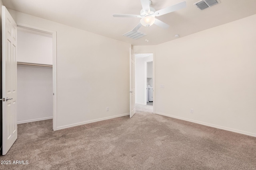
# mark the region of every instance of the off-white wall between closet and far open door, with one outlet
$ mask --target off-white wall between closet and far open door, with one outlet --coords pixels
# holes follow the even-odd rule
[[[9,12],[17,23],[57,31],[57,129],[129,113],[130,44]]]

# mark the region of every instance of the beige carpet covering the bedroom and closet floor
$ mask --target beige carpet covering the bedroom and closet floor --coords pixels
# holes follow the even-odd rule
[[[256,169],[256,138],[139,112],[53,132],[52,120],[18,125],[1,170]]]

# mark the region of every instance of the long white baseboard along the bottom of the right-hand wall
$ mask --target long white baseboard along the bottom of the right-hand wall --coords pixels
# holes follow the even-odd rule
[[[184,118],[184,117],[168,115],[168,114],[165,114],[165,113],[159,113],[159,112],[155,112],[155,113],[158,114],[158,115],[164,115],[164,116],[167,116],[167,117],[172,117],[172,118],[175,118],[175,119],[189,121],[189,122],[197,123],[197,124],[200,124],[200,125],[210,126],[210,127],[214,127],[214,128],[217,128],[217,129],[222,129],[222,130],[226,130],[226,131],[231,131],[231,132],[240,133],[240,134],[243,134],[243,135],[248,135],[248,136],[256,137],[256,134],[255,133],[251,133],[251,132],[240,131],[240,130],[232,129],[232,128],[229,128],[229,127],[223,127],[223,126],[214,125],[214,124],[211,124],[211,123],[205,123],[205,122],[202,122],[202,121],[196,121],[196,120],[192,120],[192,119],[187,119],[187,118]]]

